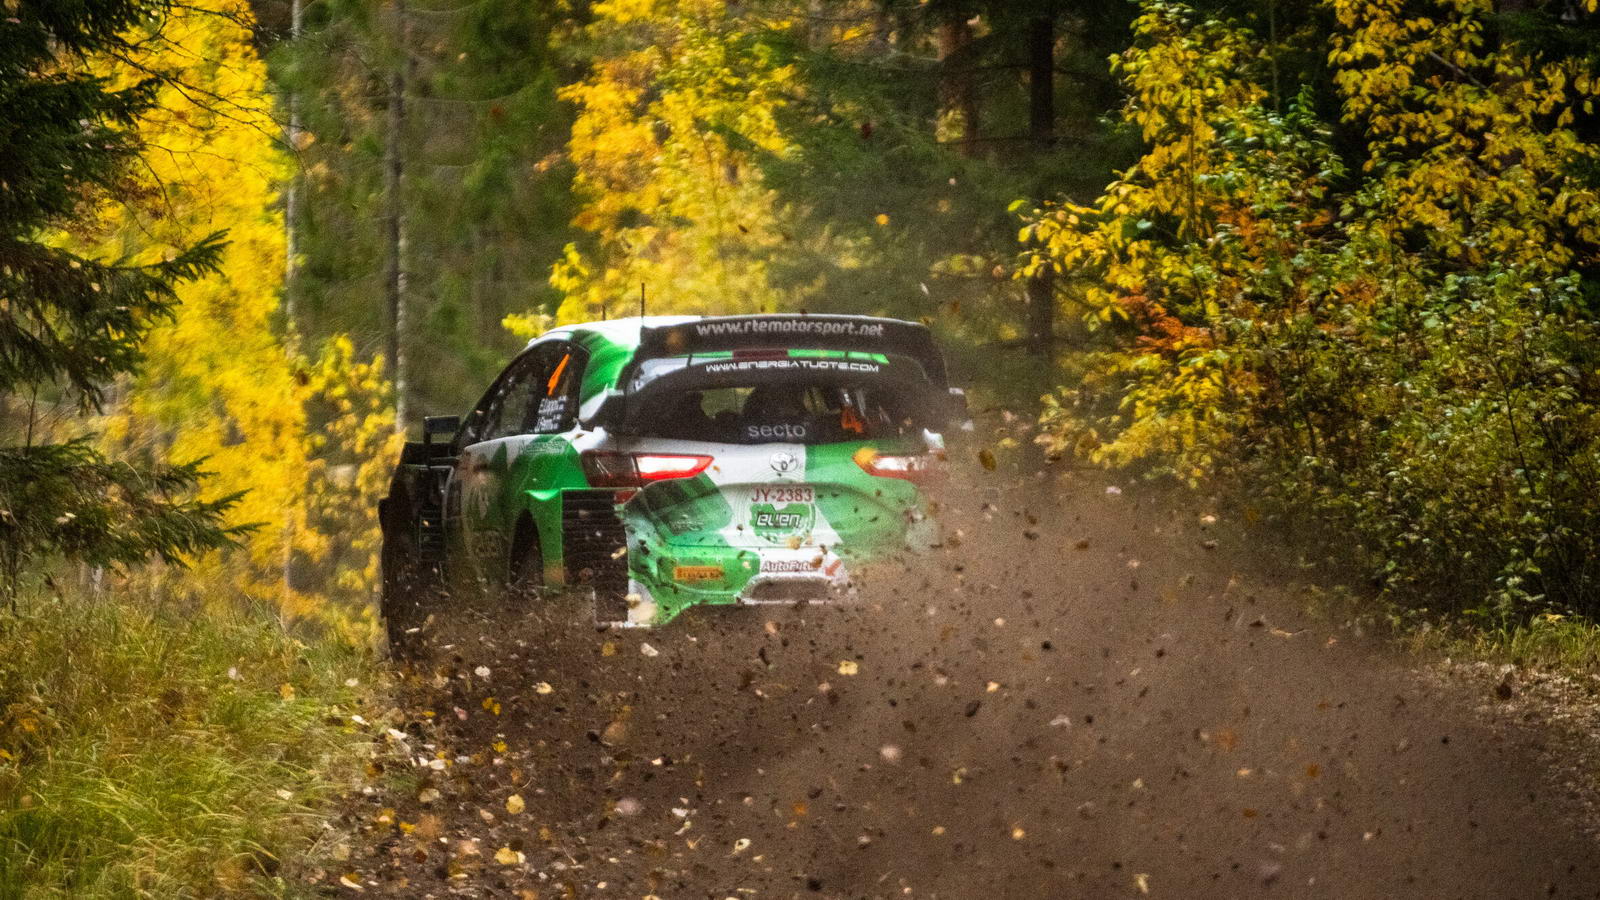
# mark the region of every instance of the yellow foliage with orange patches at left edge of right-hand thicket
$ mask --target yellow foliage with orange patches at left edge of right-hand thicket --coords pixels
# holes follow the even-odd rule
[[[1050,269],[1091,330],[1142,335],[1125,351],[1082,359],[1086,389],[1120,396],[1110,416],[1045,399],[1053,452],[1107,466],[1157,456],[1197,477],[1229,440],[1230,410],[1254,389],[1222,351],[1216,320],[1224,298],[1246,293],[1264,227],[1254,208],[1282,184],[1222,178],[1258,152],[1250,141],[1264,127],[1256,110],[1266,91],[1248,78],[1256,50],[1246,35],[1171,8],[1147,13],[1134,32],[1138,46],[1112,64],[1146,154],[1096,203],[1061,200],[1024,215],[1018,239],[1040,250],[1024,256],[1018,277]]]

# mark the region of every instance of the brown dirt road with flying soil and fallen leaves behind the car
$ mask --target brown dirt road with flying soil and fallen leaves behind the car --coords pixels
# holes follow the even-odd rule
[[[850,607],[451,610],[315,889],[1600,897],[1539,722],[1302,615],[1267,536],[1104,488],[954,503]]]

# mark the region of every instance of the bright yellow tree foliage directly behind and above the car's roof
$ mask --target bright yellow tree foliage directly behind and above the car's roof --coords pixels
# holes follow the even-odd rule
[[[750,149],[789,149],[774,110],[795,72],[739,42],[725,3],[595,3],[589,37],[618,50],[562,91],[578,107],[570,155],[582,202],[550,283],[562,322],[782,307],[768,256],[787,237]],[[738,136],[738,143],[730,139]]]

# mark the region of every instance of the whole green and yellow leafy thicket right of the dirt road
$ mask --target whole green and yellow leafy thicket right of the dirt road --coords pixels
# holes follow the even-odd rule
[[[1600,613],[1600,147],[1571,125],[1600,78],[1426,6],[1326,3],[1339,122],[1277,112],[1240,26],[1147,8],[1117,61],[1146,155],[1026,215],[1021,274],[1094,327],[1045,442],[1333,522],[1430,612]]]

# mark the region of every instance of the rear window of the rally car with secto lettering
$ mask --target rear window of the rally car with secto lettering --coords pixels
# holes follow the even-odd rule
[[[717,444],[838,444],[917,434],[909,405],[882,386],[746,384],[658,397],[640,432]]]

